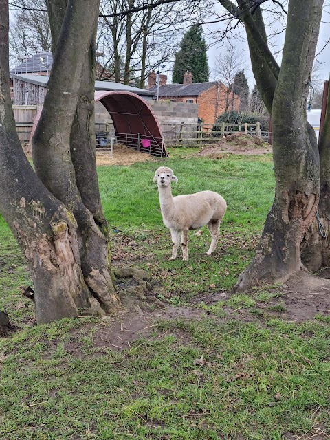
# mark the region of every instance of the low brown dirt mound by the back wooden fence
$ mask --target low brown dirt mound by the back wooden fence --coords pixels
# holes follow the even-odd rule
[[[263,142],[261,137],[234,133],[228,135],[214,144],[204,147],[197,156],[222,159],[230,154],[236,155],[261,155],[272,153],[272,146]]]

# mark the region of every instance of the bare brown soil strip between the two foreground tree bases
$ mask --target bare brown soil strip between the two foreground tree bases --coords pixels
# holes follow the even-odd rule
[[[105,325],[100,327],[94,336],[94,344],[96,347],[100,347],[100,352],[107,347],[116,351],[127,349],[142,337],[158,339],[165,335],[173,335],[177,339],[177,343],[185,344],[191,340],[189,333],[177,329],[175,325],[170,331],[161,331],[157,323],[158,320],[178,320],[180,318],[199,320],[208,312],[198,308],[198,303],[212,305],[226,300],[230,296],[229,292],[219,291],[214,294],[199,295],[191,300],[190,307],[166,306],[165,303],[157,299],[157,292],[159,292],[159,288],[163,289],[163,287],[159,286],[159,283],[153,283],[150,277],[146,282],[144,274],[147,272],[137,271],[142,273],[141,278],[140,276],[129,276],[131,267],[126,270],[128,273],[124,274],[124,279],[118,279],[118,287],[122,289],[121,296],[126,311],[116,319],[108,316],[103,318]],[[142,289],[138,289],[139,286],[142,286]],[[261,311],[265,311],[268,316],[278,317],[288,322],[304,322],[314,319],[316,314],[323,316],[330,314],[330,280],[313,276],[308,272],[299,272],[282,287],[278,287],[276,292],[278,291],[281,292],[279,298],[257,304],[257,307]],[[272,306],[278,304],[283,306],[283,311],[272,311]],[[263,318],[252,315],[249,309],[240,307],[233,310],[226,307],[225,311],[228,318],[239,319],[243,322],[259,321],[263,324]],[[213,315],[210,314],[211,316]],[[228,319],[216,316],[213,318]],[[113,321],[111,325],[109,325],[109,321]]]

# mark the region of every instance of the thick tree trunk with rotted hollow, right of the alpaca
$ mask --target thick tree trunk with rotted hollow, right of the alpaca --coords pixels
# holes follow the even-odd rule
[[[261,280],[285,281],[302,267],[300,245],[320,197],[319,157],[307,125],[306,101],[322,3],[289,1],[283,60],[272,102],[275,199],[256,257],[241,274],[236,290]]]

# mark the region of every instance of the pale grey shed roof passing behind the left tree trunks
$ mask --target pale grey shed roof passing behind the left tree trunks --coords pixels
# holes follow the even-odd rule
[[[12,78],[25,81],[25,83],[32,83],[47,87],[48,76],[33,75],[33,74],[10,74]],[[131,87],[130,85],[124,85],[120,83],[113,83],[112,81],[96,81],[96,90],[109,90],[109,91],[131,91],[133,94],[144,96],[155,96],[155,92],[152,90],[138,89],[137,87]]]

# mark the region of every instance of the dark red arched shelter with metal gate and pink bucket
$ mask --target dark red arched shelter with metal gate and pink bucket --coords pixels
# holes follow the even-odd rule
[[[130,91],[105,90],[96,91],[95,100],[111,115],[119,144],[167,157],[162,129],[148,102]]]

